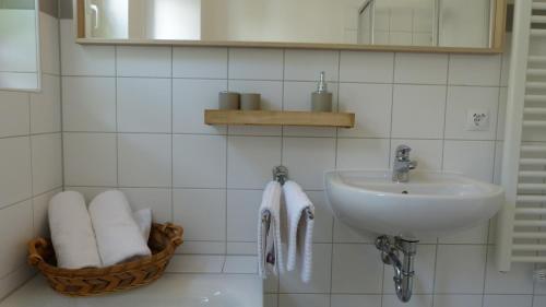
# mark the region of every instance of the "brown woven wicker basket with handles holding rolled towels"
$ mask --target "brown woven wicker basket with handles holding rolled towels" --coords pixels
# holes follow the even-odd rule
[[[153,224],[147,245],[152,256],[99,269],[57,268],[49,240],[37,238],[28,244],[28,263],[47,278],[50,286],[68,296],[96,296],[135,288],[159,279],[175,249],[182,244],[183,229],[173,224]]]

